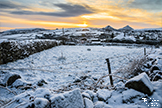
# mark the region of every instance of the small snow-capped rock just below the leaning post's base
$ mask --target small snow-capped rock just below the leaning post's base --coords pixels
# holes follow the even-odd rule
[[[108,98],[111,97],[111,91],[107,89],[99,89],[97,91],[97,97],[98,97],[98,100],[100,101],[106,101]]]

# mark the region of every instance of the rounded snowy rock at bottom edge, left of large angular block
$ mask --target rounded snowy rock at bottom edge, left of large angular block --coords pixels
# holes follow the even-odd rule
[[[45,98],[36,98],[34,100],[35,108],[49,108],[50,102]]]

